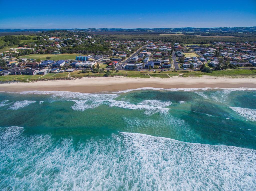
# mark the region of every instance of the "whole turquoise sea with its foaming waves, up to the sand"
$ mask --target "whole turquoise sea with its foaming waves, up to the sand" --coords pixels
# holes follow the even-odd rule
[[[256,88],[0,93],[0,190],[255,190]]]

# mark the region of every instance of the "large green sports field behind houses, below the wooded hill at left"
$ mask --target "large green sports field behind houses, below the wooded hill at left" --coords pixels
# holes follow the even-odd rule
[[[28,58],[28,59],[37,59],[46,60],[46,57],[51,57],[51,60],[69,60],[69,59],[76,59],[76,56],[79,54],[30,54],[27,56],[21,56],[21,58]],[[86,56],[86,55],[82,55]]]

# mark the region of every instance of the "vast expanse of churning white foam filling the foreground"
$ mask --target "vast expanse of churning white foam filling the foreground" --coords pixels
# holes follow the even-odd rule
[[[254,190],[256,151],[120,132],[73,142],[19,137],[1,150],[1,190]],[[47,181],[46,181],[47,180]]]

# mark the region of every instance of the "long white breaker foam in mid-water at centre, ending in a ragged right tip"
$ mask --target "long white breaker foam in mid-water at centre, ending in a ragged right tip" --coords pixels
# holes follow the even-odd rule
[[[144,109],[145,114],[152,115],[154,113],[161,113],[161,114],[168,114],[169,108],[163,108],[163,107],[154,107],[154,106],[148,106],[144,104],[132,104],[130,102],[126,101],[117,101],[117,100],[109,100],[110,104],[109,107],[120,107],[124,109]]]

